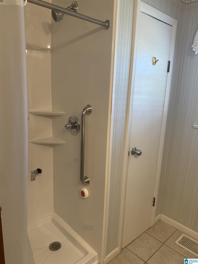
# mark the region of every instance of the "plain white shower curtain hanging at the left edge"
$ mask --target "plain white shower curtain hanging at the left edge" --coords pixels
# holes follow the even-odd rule
[[[24,1],[0,2],[0,203],[6,264],[34,263],[27,233]]]

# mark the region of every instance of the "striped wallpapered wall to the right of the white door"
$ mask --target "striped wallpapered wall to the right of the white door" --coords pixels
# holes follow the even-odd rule
[[[178,20],[157,211],[198,232],[198,2],[143,0]]]

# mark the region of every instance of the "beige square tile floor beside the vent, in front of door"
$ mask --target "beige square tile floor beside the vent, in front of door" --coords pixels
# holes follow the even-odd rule
[[[174,243],[183,232],[161,220],[127,245],[109,264],[183,264],[198,258]]]

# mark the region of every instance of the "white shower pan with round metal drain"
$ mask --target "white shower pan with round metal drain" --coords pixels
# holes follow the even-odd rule
[[[97,264],[97,253],[57,214],[28,223],[35,264]]]

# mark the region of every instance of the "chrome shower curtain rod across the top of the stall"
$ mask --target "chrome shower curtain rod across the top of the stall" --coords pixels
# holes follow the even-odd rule
[[[52,9],[52,10],[60,11],[63,14],[71,15],[71,16],[77,17],[79,19],[83,19],[83,20],[86,20],[88,22],[103,26],[103,27],[105,27],[106,30],[110,27],[110,21],[109,20],[106,20],[105,22],[103,22],[101,20],[86,16],[86,15],[82,15],[79,13],[75,13],[73,11],[69,11],[65,8],[60,7],[60,6],[55,6],[53,4],[50,4],[50,3],[47,3],[47,2],[41,1],[41,0],[28,0],[28,2],[35,4],[35,5],[38,5],[38,6],[43,6],[43,7]]]

